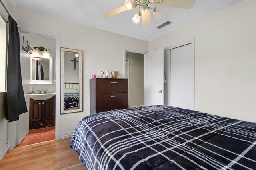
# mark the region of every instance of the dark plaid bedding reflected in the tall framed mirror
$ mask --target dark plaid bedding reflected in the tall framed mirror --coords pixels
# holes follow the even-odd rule
[[[64,110],[79,107],[79,93],[64,93]]]

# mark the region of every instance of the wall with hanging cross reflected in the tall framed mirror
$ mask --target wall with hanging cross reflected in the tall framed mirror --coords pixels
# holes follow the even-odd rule
[[[74,58],[76,58],[76,70],[74,69]],[[79,57],[75,53],[64,52],[64,82],[79,83]]]

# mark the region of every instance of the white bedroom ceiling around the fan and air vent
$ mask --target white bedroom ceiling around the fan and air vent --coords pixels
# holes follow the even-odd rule
[[[59,18],[103,29],[106,31],[151,41],[166,33],[170,33],[184,25],[204,18],[214,12],[222,10],[241,0],[196,0],[196,4],[189,10],[170,7],[158,7],[163,12],[162,18],[157,20],[151,16],[150,27],[142,27],[141,21],[136,24],[132,17],[138,12],[138,7],[124,11],[111,18],[104,18],[102,14],[124,5],[124,0],[7,0],[10,6],[36,12],[46,16]],[[151,7],[155,7],[151,5]],[[156,27],[167,20],[173,22],[162,29]]]

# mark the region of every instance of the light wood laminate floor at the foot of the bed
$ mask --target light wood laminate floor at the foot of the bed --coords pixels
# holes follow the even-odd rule
[[[0,170],[85,170],[70,148],[71,138],[16,147],[0,162]]]

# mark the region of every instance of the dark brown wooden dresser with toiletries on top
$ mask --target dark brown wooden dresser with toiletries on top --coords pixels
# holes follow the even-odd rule
[[[127,108],[127,78],[90,79],[90,114]]]

